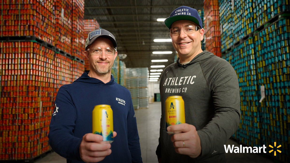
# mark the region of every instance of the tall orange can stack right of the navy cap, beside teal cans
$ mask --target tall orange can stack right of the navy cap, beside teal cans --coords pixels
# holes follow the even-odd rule
[[[220,16],[218,0],[204,1],[205,49],[221,57]]]

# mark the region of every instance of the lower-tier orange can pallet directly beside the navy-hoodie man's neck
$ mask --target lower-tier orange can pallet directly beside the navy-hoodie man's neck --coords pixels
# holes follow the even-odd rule
[[[81,75],[84,73],[85,71],[85,65],[84,65],[84,60],[79,59],[76,56],[73,56],[73,64],[72,64],[72,80],[75,81],[76,79],[78,79],[79,77],[81,77]]]

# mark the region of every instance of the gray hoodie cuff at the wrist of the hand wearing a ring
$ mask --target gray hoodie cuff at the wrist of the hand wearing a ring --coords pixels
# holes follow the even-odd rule
[[[200,156],[205,156],[211,152],[211,140],[209,139],[209,136],[202,130],[198,130],[197,134],[200,137],[200,145],[201,145]]]

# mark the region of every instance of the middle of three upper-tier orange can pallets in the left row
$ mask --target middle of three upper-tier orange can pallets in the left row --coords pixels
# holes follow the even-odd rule
[[[55,1],[55,46],[72,54],[72,4],[70,0]]]

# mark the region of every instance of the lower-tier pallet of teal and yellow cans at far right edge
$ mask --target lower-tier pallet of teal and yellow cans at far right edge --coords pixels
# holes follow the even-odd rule
[[[277,155],[283,162],[289,161],[290,144],[289,32],[289,19],[282,18],[255,35],[258,84],[265,87],[261,103],[262,143],[281,144],[282,152]]]

